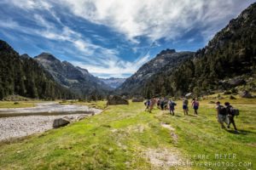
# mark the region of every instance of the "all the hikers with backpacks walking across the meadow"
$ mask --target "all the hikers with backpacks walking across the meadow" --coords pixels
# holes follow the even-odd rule
[[[151,111],[154,109],[154,106],[156,105],[157,108],[162,111],[169,110],[172,116],[174,116],[175,107],[177,106],[177,104],[172,99],[166,98],[147,99],[144,102],[144,105],[146,106],[145,111],[148,111],[149,113],[151,113]],[[194,110],[194,114],[197,116],[199,109],[198,99],[192,99],[191,106]],[[234,129],[237,131],[236,123],[234,120],[234,117],[239,115],[239,111],[237,109],[230,105],[229,102],[225,102],[224,105],[221,105],[221,103],[218,101],[216,102],[216,111],[218,122],[222,128],[225,128],[225,122],[228,128],[230,128],[230,124],[232,124]],[[189,99],[187,98],[183,98],[183,113],[185,116],[189,115]]]

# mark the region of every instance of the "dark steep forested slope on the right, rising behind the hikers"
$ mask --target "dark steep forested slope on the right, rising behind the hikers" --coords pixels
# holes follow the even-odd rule
[[[176,68],[164,67],[143,87],[145,96],[209,94],[244,85],[256,90],[256,3]]]

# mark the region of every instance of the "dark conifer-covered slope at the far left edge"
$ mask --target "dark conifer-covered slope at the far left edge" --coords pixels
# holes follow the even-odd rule
[[[0,40],[0,99],[9,94],[39,99],[73,98],[35,60],[28,55],[20,56]]]

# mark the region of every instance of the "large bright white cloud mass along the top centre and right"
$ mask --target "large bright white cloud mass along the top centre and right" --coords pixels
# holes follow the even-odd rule
[[[130,39],[173,39],[195,27],[218,31],[253,0],[59,0],[86,20],[119,31]],[[64,3],[65,2],[65,3]],[[208,36],[208,35],[207,35]]]

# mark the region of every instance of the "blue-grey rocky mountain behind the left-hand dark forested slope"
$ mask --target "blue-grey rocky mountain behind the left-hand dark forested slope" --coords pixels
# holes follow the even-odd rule
[[[34,59],[44,67],[45,71],[49,71],[56,82],[81,94],[81,97],[92,94],[106,95],[111,90],[107,84],[92,76],[87,70],[75,67],[67,61],[61,62],[52,54],[42,53]]]

